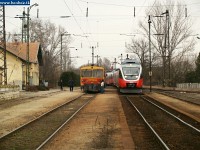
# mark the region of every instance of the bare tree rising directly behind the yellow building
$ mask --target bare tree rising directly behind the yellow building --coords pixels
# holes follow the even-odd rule
[[[30,23],[30,40],[40,42],[43,50],[44,66],[42,67],[41,78],[48,80],[52,86],[56,85],[61,73],[61,56],[64,64],[69,61],[68,45],[70,36],[62,37],[61,51],[61,34],[63,33],[67,33],[63,27],[59,26],[57,28],[50,21],[44,22],[36,19]]]

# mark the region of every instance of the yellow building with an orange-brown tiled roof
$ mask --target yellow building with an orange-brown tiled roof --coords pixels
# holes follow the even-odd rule
[[[2,51],[0,47],[0,51]],[[27,43],[6,43],[7,84],[19,85],[22,89],[26,85]],[[0,62],[2,63],[2,62]],[[40,66],[43,65],[40,43],[29,44],[29,85],[39,85]],[[0,76],[0,81],[2,77]]]

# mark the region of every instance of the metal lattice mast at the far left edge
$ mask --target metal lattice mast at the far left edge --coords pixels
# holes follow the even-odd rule
[[[7,85],[5,6],[0,6],[0,85]]]

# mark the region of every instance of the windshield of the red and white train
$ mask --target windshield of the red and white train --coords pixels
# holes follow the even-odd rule
[[[136,80],[139,77],[140,68],[139,67],[123,67],[123,74],[127,80]]]

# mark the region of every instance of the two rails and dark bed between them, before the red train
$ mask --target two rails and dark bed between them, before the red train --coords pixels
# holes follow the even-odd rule
[[[162,144],[164,149],[168,150],[179,146],[183,146],[187,149],[199,147],[199,143],[194,141],[199,141],[200,129],[198,125],[198,127],[195,127],[190,124],[191,120],[183,119],[183,116],[179,116],[180,114],[178,114],[178,116],[174,115],[175,112],[172,111],[172,113],[170,109],[168,111],[165,106],[160,106],[144,96],[140,96],[141,100],[136,97],[126,96],[126,98],[141,116],[142,120],[152,131],[157,140],[159,140],[159,143]],[[187,122],[185,120],[187,120]],[[170,124],[166,125],[168,122],[170,122]],[[174,135],[171,136],[168,134],[170,132],[173,132]],[[187,135],[188,143],[185,143],[186,139],[182,140],[180,135]],[[193,144],[192,146],[191,143]]]

